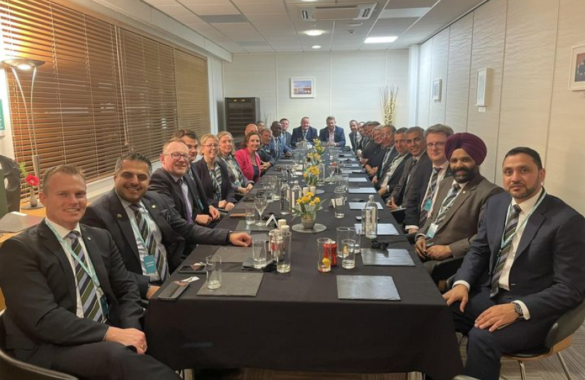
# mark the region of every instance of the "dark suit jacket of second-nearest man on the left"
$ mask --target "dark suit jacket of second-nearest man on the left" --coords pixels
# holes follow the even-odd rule
[[[228,241],[229,231],[226,229],[211,229],[197,224],[187,223],[179,213],[169,205],[161,194],[147,191],[142,197],[144,208],[157,226],[162,236],[162,243],[166,250],[166,260],[169,272],[177,269],[185,259],[184,251],[187,243],[223,245]],[[140,295],[146,298],[149,277],[142,275],[140,254],[130,218],[124,210],[115,189],[101,196],[87,207],[82,218],[84,224],[106,229],[112,236],[114,243],[130,277],[138,284]]]

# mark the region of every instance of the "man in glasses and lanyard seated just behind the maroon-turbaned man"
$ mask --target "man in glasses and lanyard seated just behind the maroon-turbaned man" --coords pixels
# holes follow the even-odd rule
[[[445,141],[453,134],[453,129],[446,125],[436,124],[424,131],[426,154],[431,161],[430,166],[421,166],[414,175],[413,191],[406,199],[405,230],[413,234],[419,230],[437,197],[438,185],[443,178],[451,175],[449,162],[445,157]]]

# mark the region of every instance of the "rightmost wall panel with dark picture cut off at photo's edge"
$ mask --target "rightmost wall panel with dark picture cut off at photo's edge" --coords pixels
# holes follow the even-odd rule
[[[546,153],[546,190],[585,214],[585,92],[569,91],[569,52],[585,44],[585,1],[561,0]]]

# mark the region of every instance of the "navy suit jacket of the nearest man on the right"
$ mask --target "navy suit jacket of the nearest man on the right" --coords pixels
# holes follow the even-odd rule
[[[455,279],[472,288],[489,286],[511,198],[488,199],[476,238]],[[531,319],[562,315],[585,297],[585,219],[555,196],[547,195],[526,222],[510,269],[510,293]]]

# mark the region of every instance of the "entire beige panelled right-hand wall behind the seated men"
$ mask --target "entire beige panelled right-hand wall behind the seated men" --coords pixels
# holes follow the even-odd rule
[[[488,146],[481,172],[498,184],[510,148],[536,149],[548,193],[585,213],[585,95],[568,89],[570,50],[585,45],[582,15],[583,0],[491,0],[436,34],[420,49],[418,120],[479,135]],[[474,105],[482,68],[484,110]]]

